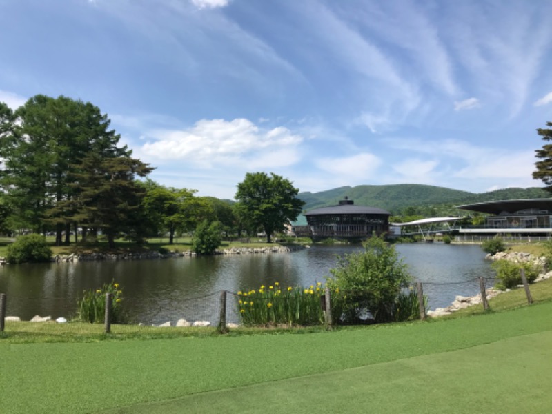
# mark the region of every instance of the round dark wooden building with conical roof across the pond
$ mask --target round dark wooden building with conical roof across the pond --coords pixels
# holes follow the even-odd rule
[[[355,206],[353,200],[339,201],[339,205],[315,208],[305,213],[306,226],[294,226],[297,236],[313,239],[366,239],[389,231],[389,213],[375,207]]]

